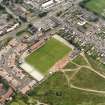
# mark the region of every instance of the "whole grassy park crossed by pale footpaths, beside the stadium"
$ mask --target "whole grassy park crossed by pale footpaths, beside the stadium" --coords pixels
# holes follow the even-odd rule
[[[81,53],[26,97],[9,105],[105,105],[105,65]]]

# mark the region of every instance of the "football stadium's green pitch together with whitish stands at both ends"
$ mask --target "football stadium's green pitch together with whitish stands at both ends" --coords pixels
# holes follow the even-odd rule
[[[21,65],[33,77],[37,75],[39,81],[72,50],[69,43],[58,35],[48,38],[43,43],[41,47],[34,49]]]

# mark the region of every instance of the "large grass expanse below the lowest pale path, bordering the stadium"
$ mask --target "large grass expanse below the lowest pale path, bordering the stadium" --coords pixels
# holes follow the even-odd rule
[[[65,76],[61,72],[52,75],[41,85],[34,88],[34,90],[28,94],[28,97],[35,98],[48,105],[99,105],[99,103],[105,103],[105,96],[70,88]],[[26,103],[26,105],[37,105],[27,104],[28,97],[23,98],[23,102]],[[22,100],[22,98],[20,100]],[[15,105],[12,103],[10,105]]]

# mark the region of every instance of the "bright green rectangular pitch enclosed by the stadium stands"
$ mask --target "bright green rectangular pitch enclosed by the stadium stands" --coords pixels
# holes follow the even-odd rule
[[[44,46],[34,51],[26,58],[26,62],[38,69],[41,73],[46,73],[58,60],[69,53],[71,49],[60,41],[51,38]]]

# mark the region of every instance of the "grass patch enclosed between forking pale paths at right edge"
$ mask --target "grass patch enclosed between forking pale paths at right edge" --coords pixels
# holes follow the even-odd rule
[[[81,88],[105,91],[105,79],[88,68],[81,68],[73,78],[72,84]]]

